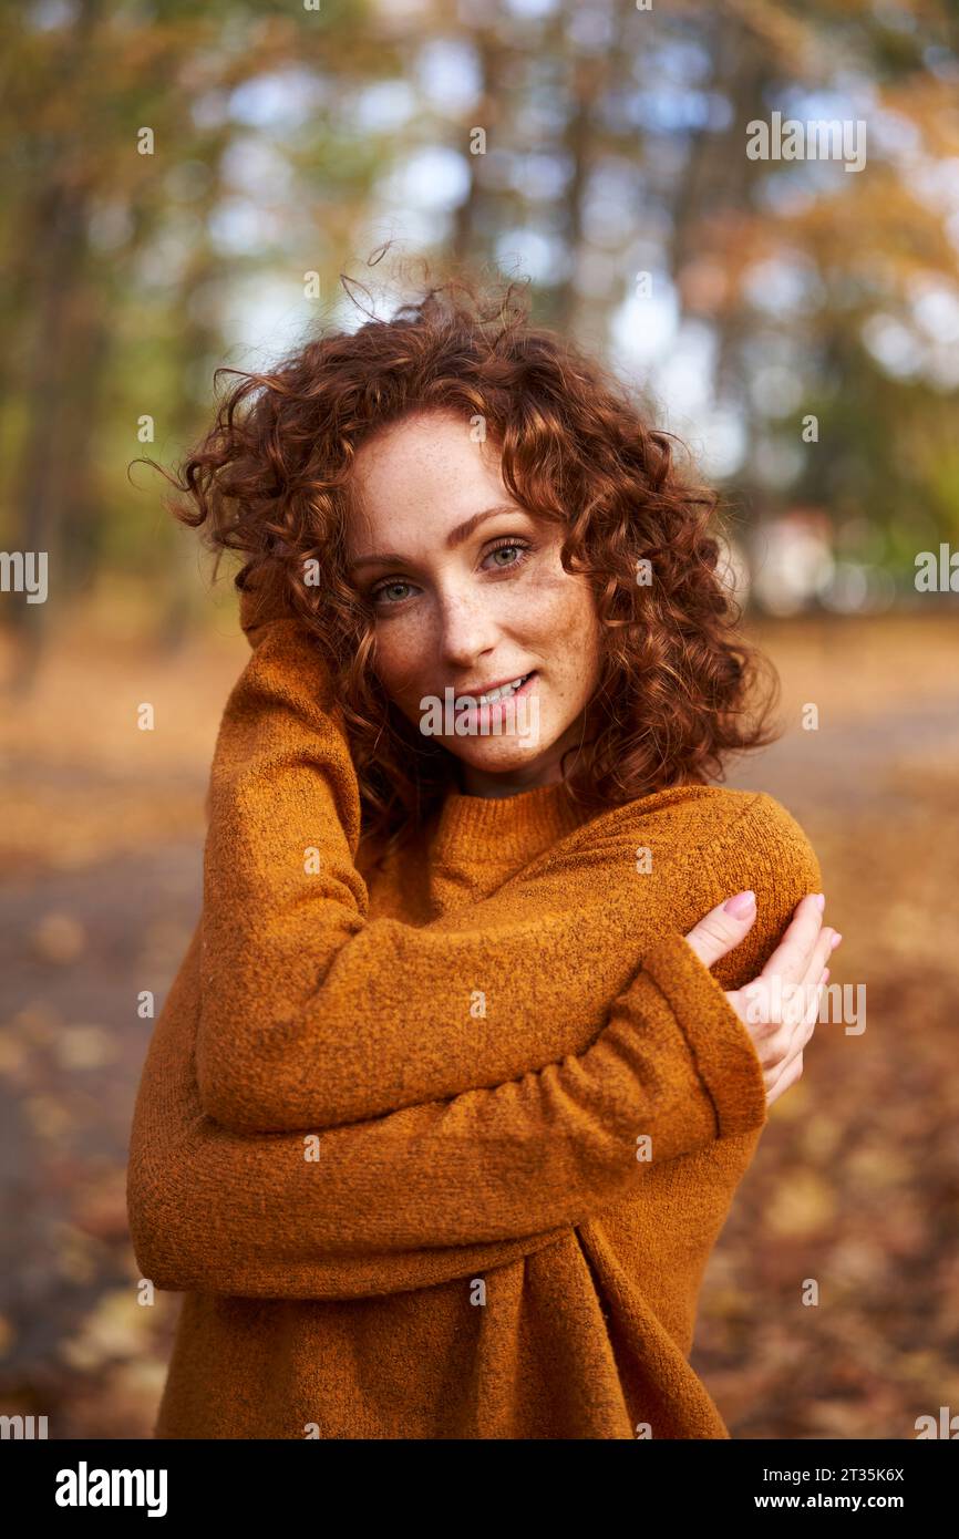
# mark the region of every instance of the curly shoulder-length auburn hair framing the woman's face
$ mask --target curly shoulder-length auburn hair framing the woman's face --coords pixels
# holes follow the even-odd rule
[[[454,785],[449,749],[417,734],[377,680],[373,608],[346,571],[356,452],[405,417],[482,423],[510,494],[565,528],[563,569],[588,576],[600,677],[563,774],[590,816],[722,777],[730,754],[779,736],[767,725],[777,679],[737,634],[717,492],[680,479],[674,436],[594,359],[534,326],[517,288],[448,279],[388,320],[308,340],[268,372],[219,368],[214,382],[226,372],[240,383],[180,479],[168,477],[192,499],[172,511],[208,525],[217,566],[223,551],[245,554],[237,589],[272,594],[316,633],[349,734],[363,839],[386,846]]]

